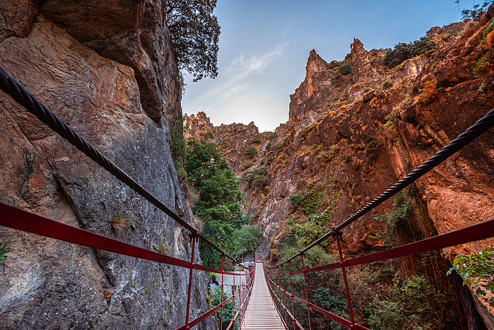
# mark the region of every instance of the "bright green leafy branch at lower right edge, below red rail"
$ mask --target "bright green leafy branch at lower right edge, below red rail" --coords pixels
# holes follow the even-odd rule
[[[494,293],[493,251],[494,248],[485,248],[478,254],[458,254],[447,274],[454,270],[463,279],[463,285],[470,283],[470,286],[477,288],[475,293],[478,297],[486,295],[487,291]],[[494,307],[494,297],[491,297],[490,304]]]

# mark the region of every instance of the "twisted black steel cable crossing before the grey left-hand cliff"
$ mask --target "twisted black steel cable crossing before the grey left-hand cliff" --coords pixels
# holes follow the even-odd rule
[[[87,142],[79,133],[77,133],[72,127],[65,124],[60,118],[58,118],[53,112],[47,109],[40,101],[38,101],[30,92],[24,89],[18,82],[12,79],[1,67],[0,67],[0,89],[10,95],[17,103],[25,107],[30,113],[35,115],[41,122],[48,125],[55,132],[60,134],[64,139],[69,141],[77,149],[82,151],[87,157],[94,162],[105,168],[117,179],[126,184],[129,188],[136,193],[144,197],[151,202],[154,206],[161,209],[169,217],[185,227],[192,234],[198,234],[197,229],[192,227],[178,215],[176,215],[171,209],[166,207],[155,196],[142,187],[137,181],[132,179],[127,173],[125,173],[119,166],[114,164],[108,158],[106,158],[101,152],[94,148],[89,142]],[[219,252],[222,250],[216,247],[204,236],[199,234],[201,241],[209,245],[211,248],[216,249]],[[226,255],[232,261],[236,261],[229,255]]]

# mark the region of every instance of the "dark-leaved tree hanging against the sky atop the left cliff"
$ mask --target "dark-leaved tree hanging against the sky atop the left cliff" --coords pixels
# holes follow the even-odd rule
[[[167,0],[166,20],[180,71],[194,82],[218,75],[220,26],[212,14],[216,0]]]

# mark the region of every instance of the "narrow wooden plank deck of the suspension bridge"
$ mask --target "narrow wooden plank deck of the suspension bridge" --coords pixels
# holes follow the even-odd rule
[[[255,277],[252,295],[247,305],[247,312],[242,323],[242,330],[285,330],[280,314],[269,293],[262,263],[255,265]]]

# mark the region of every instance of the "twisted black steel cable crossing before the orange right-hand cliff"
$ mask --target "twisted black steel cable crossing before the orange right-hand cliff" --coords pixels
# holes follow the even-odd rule
[[[418,166],[410,174],[408,174],[406,177],[398,181],[394,186],[386,190],[384,193],[379,195],[376,199],[374,199],[366,206],[362,207],[357,212],[350,215],[345,221],[341,222],[337,226],[334,226],[329,233],[321,236],[319,239],[314,241],[311,245],[302,249],[299,253],[295,254],[288,260],[295,258],[296,256],[300,255],[300,253],[306,252],[307,250],[313,248],[314,246],[328,239],[333,232],[340,231],[341,229],[345,228],[346,226],[348,226],[358,218],[362,217],[363,215],[365,215],[375,207],[379,206],[380,204],[388,200],[390,197],[400,192],[402,189],[408,187],[419,177],[421,177],[422,175],[430,171],[432,168],[436,167],[437,165],[445,161],[448,157],[450,157],[455,152],[463,148],[465,145],[470,143],[479,135],[489,130],[493,125],[494,125],[494,109],[489,111],[484,117],[479,119],[475,124],[471,125],[467,130],[465,130],[463,133],[458,135],[458,137],[456,137],[443,149],[438,151],[434,156],[432,156],[427,161],[425,161],[422,165]],[[288,260],[284,261],[283,263],[287,262]]]

